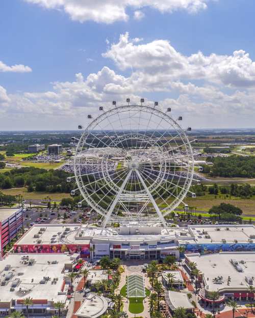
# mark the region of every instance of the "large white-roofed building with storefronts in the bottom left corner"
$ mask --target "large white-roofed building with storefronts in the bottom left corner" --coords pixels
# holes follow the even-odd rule
[[[0,316],[14,310],[26,313],[24,298],[32,298],[29,314],[54,315],[57,302],[68,298],[68,271],[77,263],[79,254],[12,254],[0,261]],[[68,302],[67,302],[68,303]],[[67,310],[62,308],[62,313]]]

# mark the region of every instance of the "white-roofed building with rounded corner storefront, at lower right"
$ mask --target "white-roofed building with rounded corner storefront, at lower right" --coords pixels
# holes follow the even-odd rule
[[[204,302],[213,303],[210,292],[218,291],[216,302],[226,299],[236,301],[253,300],[254,293],[249,292],[249,285],[255,285],[255,252],[220,252],[185,256],[186,266],[196,264],[200,275],[201,290],[199,296]]]

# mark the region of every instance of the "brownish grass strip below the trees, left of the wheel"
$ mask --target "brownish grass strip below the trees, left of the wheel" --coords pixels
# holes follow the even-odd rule
[[[69,193],[28,192],[27,188],[4,189],[1,191],[10,195],[21,194],[24,199],[43,199],[49,196],[53,200],[61,200],[62,198],[70,197]]]

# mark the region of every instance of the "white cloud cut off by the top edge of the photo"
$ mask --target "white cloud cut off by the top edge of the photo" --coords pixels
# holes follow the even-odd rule
[[[135,18],[142,18],[143,7],[150,7],[160,12],[173,12],[186,10],[196,13],[207,8],[207,3],[213,0],[24,0],[28,3],[40,5],[47,9],[62,9],[72,20],[85,22],[113,23],[115,21],[126,21],[129,16],[126,8],[136,10]],[[140,12],[140,13],[139,13]]]

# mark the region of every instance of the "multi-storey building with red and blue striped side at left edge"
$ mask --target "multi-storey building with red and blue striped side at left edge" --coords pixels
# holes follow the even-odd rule
[[[0,256],[4,247],[11,242],[22,227],[22,209],[0,209]]]

